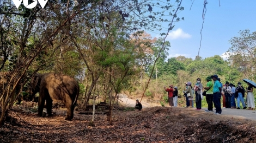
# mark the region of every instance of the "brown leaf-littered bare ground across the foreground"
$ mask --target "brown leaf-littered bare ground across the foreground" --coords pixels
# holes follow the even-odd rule
[[[19,111],[20,110],[20,111]],[[39,117],[19,106],[0,128],[0,142],[256,142],[256,121],[198,112],[190,108],[151,107],[81,115],[65,121],[65,109]]]

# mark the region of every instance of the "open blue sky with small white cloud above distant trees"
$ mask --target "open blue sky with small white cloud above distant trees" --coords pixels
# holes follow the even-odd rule
[[[168,59],[180,55],[194,59],[198,55],[204,0],[194,0],[193,5],[192,2],[193,0],[182,1],[181,5],[185,10],[181,11],[178,17],[184,17],[185,21],[174,23],[175,27],[167,37],[171,44]],[[214,55],[222,56],[231,47],[228,41],[232,37],[240,36],[240,30],[256,31],[255,0],[220,0],[220,5],[218,0],[208,0],[206,4],[199,53],[203,59]],[[160,35],[151,33],[151,36]],[[224,60],[226,58],[223,56]]]

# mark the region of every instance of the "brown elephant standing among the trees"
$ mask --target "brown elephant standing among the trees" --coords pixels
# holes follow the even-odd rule
[[[65,120],[72,120],[79,95],[77,81],[68,75],[56,73],[36,73],[32,76],[30,94],[35,96],[39,92],[38,115],[42,116],[46,100],[46,109],[52,115],[52,101],[61,101],[67,108]]]

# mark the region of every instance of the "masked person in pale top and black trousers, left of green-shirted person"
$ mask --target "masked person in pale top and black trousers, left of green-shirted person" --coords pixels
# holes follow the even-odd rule
[[[196,94],[196,110],[200,110],[202,108],[202,98],[201,98],[201,90],[203,88],[203,85],[201,83],[201,79],[197,78],[197,83],[194,85],[194,92]]]

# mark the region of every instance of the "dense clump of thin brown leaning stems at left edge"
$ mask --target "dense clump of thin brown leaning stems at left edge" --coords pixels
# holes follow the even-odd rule
[[[64,1],[58,3],[48,1],[48,5],[44,9],[40,9],[39,5],[33,9],[27,9],[21,5],[19,9],[16,9],[11,1],[3,3],[1,1],[0,14],[3,17],[0,19],[0,28],[2,37],[8,38],[6,41],[2,39],[1,42],[4,49],[1,54],[4,59],[1,59],[2,68],[0,70],[9,70],[9,72],[0,98],[2,108],[0,126],[4,125],[5,118],[22,87],[28,82],[26,77],[30,76],[27,75],[29,68],[34,69],[32,72],[37,72],[40,69],[30,67],[36,65],[33,62],[44,61],[40,57],[47,55],[47,51],[54,47],[61,33],[72,26],[70,23],[72,19],[78,18],[76,16],[81,12],[90,11],[88,7],[93,6],[84,2],[73,5],[73,2],[68,1],[68,5],[71,6],[65,6],[65,4]],[[64,9],[65,12],[63,12]],[[58,48],[60,46],[57,46],[55,50]],[[10,57],[9,61],[6,60],[7,56]],[[47,62],[49,61],[42,62],[40,66]]]

